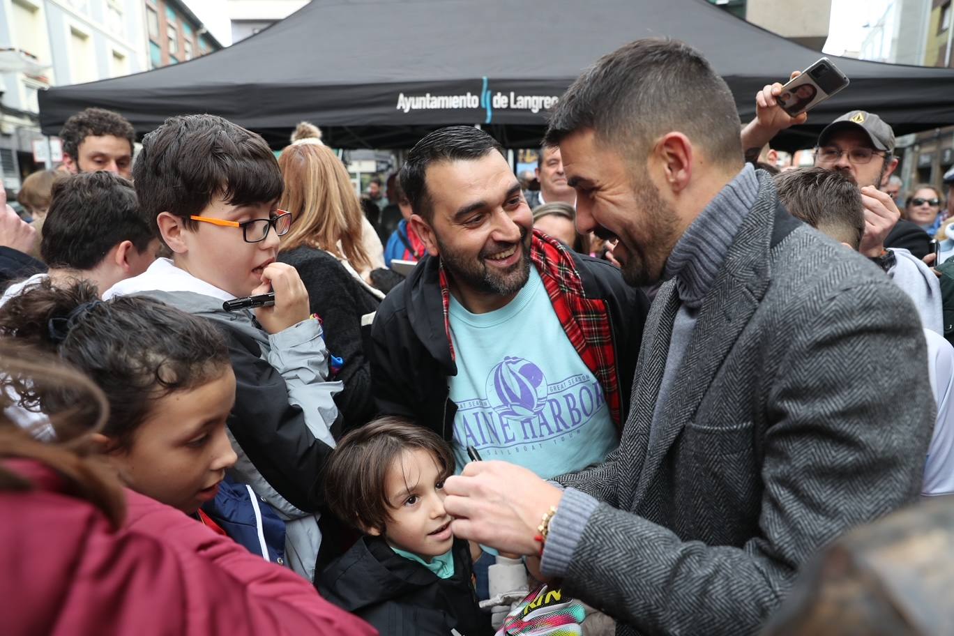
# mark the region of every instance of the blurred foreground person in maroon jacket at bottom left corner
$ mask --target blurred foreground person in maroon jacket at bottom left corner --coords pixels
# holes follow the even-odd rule
[[[14,395],[57,405],[56,441],[0,413],[0,633],[374,633],[294,572],[124,489],[95,452],[110,421],[102,391],[15,345],[0,351],[0,407]]]

